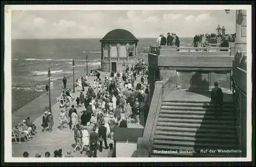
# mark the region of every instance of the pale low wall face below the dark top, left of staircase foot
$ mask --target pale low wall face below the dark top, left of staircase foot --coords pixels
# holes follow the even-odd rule
[[[116,157],[134,157],[136,150],[136,142],[116,142]]]

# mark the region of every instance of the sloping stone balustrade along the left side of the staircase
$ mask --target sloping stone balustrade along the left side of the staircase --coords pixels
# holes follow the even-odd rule
[[[155,82],[155,90],[153,94],[153,98],[151,101],[150,110],[148,112],[144,132],[142,138],[138,138],[137,141],[137,151],[138,157],[150,157],[151,156],[151,148],[154,140],[154,135],[156,131],[156,125],[158,116],[160,113],[160,106],[162,103],[162,99],[166,94],[170,91],[170,78],[164,77],[161,81]]]

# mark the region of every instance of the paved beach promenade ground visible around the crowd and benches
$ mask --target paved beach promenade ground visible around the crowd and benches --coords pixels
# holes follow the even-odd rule
[[[100,72],[101,79],[103,80],[105,77],[104,72]],[[93,81],[96,77],[90,77],[90,85],[93,84]],[[71,80],[73,78],[70,78],[67,87],[71,89],[73,86]],[[138,78],[137,80],[139,80]],[[137,81],[135,82],[137,84]],[[51,94],[60,94],[62,92],[62,84],[59,85],[59,88],[54,89],[51,91]],[[86,94],[88,87],[85,87],[85,92]],[[77,90],[77,89],[76,89]],[[55,91],[55,92],[54,92]],[[52,93],[54,92],[54,93]],[[73,97],[76,98],[79,96],[80,92],[75,91],[75,93],[72,93]],[[56,97],[52,97],[55,103],[56,103]],[[12,113],[13,117],[13,126],[15,123],[17,124],[21,120],[23,120],[25,117],[30,116],[33,123],[37,127],[37,134],[33,135],[33,138],[28,141],[28,142],[22,142],[20,144],[12,144],[12,157],[23,157],[23,153],[27,151],[29,153],[29,157],[34,157],[36,153],[39,153],[42,157],[45,156],[45,152],[50,152],[51,156],[53,157],[53,152],[58,149],[62,149],[62,154],[63,156],[66,155],[67,151],[73,151],[74,146],[75,146],[75,140],[74,140],[74,132],[70,132],[70,129],[68,125],[65,125],[66,128],[63,130],[60,130],[58,128],[59,126],[59,121],[58,121],[58,114],[59,114],[59,104],[54,104],[52,103],[52,115],[53,115],[53,120],[54,120],[54,126],[53,126],[53,132],[41,132],[42,127],[42,115],[44,114],[44,108],[46,106],[49,106],[49,95],[44,94],[37,99],[33,100],[29,104],[25,105],[24,107],[20,108],[17,112]],[[76,101],[70,102],[70,106],[74,104],[76,106]],[[77,112],[81,112],[84,110],[84,107],[75,107],[77,109]],[[29,110],[30,109],[30,110]],[[41,110],[41,113],[36,113],[32,114],[31,112],[36,111],[36,110]],[[142,119],[143,117],[140,116],[141,124],[144,125],[144,121]],[[142,125],[137,125],[137,124],[132,124],[130,123],[128,127],[131,128],[143,128]],[[110,143],[114,144],[114,141],[111,140],[110,138],[108,139],[108,145]],[[84,151],[83,154],[80,154],[79,152],[72,152],[72,155],[74,157],[88,157],[86,155],[86,152]],[[107,150],[103,149],[102,152],[97,151],[97,157],[106,157],[107,155]]]

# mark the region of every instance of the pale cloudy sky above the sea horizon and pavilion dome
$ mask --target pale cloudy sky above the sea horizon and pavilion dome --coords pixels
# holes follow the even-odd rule
[[[16,10],[12,11],[12,39],[103,38],[114,29],[125,29],[137,38],[157,38],[163,33],[194,37],[236,32],[236,11],[224,10]]]

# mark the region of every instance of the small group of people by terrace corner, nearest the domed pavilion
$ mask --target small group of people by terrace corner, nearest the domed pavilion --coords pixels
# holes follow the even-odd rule
[[[180,40],[176,33],[167,33],[167,38],[163,34],[160,34],[157,38],[157,44],[159,46],[177,46],[180,47]]]

